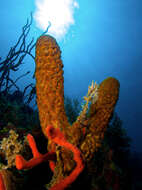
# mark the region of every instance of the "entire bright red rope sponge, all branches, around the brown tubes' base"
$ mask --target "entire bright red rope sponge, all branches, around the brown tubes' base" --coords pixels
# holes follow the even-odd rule
[[[74,154],[73,159],[76,162],[75,169],[71,172],[71,174],[69,176],[67,176],[66,178],[60,180],[59,183],[55,184],[53,187],[50,188],[50,190],[64,190],[73,181],[76,180],[78,175],[84,169],[84,164],[83,164],[83,160],[82,160],[82,157],[81,157],[81,152],[77,147],[75,147],[73,144],[71,144],[71,143],[69,143],[67,141],[64,134],[61,132],[61,130],[59,128],[54,128],[53,126],[48,126],[46,128],[46,133],[47,133],[48,138],[51,141],[58,144],[59,146],[67,148],[68,150],[72,151],[73,154]],[[23,158],[23,156],[17,155],[16,160],[15,160],[16,168],[18,170],[30,169],[30,168],[40,164],[41,162],[49,160],[51,168],[52,168],[52,170],[54,170],[55,164],[53,163],[53,161],[56,161],[56,153],[55,152],[48,152],[48,153],[43,155],[43,154],[39,153],[39,151],[37,149],[37,146],[36,146],[36,142],[35,142],[33,136],[28,134],[27,139],[28,139],[28,142],[29,142],[29,146],[30,146],[30,148],[32,150],[33,158],[30,159],[29,161],[26,161]],[[2,190],[5,190],[5,189],[2,189]]]

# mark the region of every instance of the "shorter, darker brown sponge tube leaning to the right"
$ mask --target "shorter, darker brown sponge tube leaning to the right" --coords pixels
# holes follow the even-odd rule
[[[119,97],[119,87],[119,81],[113,77],[108,77],[99,86],[98,100],[91,105],[86,121],[88,134],[80,147],[85,160],[91,160],[93,153],[101,146]]]

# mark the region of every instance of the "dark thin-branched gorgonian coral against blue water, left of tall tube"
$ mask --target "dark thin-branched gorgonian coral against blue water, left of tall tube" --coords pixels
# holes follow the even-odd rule
[[[31,13],[30,20],[27,19],[27,23],[23,26],[22,33],[16,44],[10,48],[6,58],[3,61],[0,60],[0,91],[9,92],[11,87],[15,87],[18,90],[19,87],[16,85],[15,79],[11,78],[11,72],[16,72],[19,69],[27,55],[33,60],[35,59],[32,55],[32,50],[36,45],[34,39],[30,42],[27,41],[32,22],[33,16]],[[21,77],[25,75],[27,74],[24,74]]]

